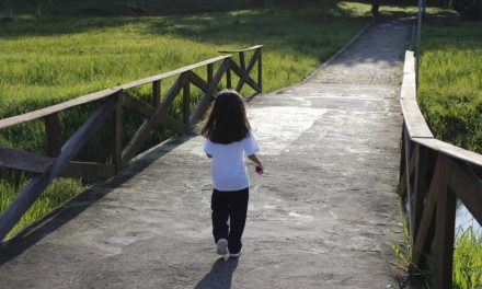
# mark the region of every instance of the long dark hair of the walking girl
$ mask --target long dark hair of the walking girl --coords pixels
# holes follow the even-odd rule
[[[244,100],[234,90],[222,90],[200,134],[216,143],[231,143],[248,136],[251,126],[248,122]]]

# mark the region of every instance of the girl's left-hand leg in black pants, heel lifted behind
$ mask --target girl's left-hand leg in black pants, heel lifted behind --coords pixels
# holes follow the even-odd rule
[[[217,189],[213,190],[211,196],[211,219],[213,219],[213,235],[215,238],[215,243],[219,239],[228,240],[228,199],[226,197],[226,192],[219,192]]]

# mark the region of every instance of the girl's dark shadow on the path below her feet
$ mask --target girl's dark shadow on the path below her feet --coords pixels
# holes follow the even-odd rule
[[[218,258],[204,278],[194,289],[229,289],[231,288],[232,274],[238,267],[239,258]]]

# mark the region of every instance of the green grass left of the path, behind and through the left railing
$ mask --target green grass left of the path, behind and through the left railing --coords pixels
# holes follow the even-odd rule
[[[218,50],[254,44],[265,45],[263,86],[265,91],[273,91],[299,82],[340,49],[368,23],[369,9],[367,4],[326,2],[300,9],[145,18],[15,16],[0,25],[0,118],[170,71],[215,57]],[[205,69],[197,72],[206,73]],[[163,93],[172,82],[169,79],[162,83]],[[148,99],[149,85],[130,93]],[[194,93],[198,95],[199,91]],[[62,112],[62,140],[99,105]],[[179,114],[179,111],[180,105],[174,105],[172,113]],[[124,122],[126,141],[142,119],[126,113]],[[107,124],[76,160],[108,162],[112,159],[110,134]],[[152,134],[147,147],[169,136],[172,131],[161,129]],[[45,152],[42,119],[2,129],[0,144]],[[7,170],[0,175],[0,209],[3,210],[28,176]],[[39,207],[33,209],[35,213],[28,212],[14,231],[70,198],[83,185],[70,180],[59,181],[53,187],[51,193],[44,194],[48,201],[37,201]]]

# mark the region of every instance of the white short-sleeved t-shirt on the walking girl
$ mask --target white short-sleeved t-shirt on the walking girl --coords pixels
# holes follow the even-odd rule
[[[206,139],[204,151],[211,158],[213,186],[218,190],[239,190],[250,186],[244,155],[260,151],[253,132],[228,144],[215,143]]]

